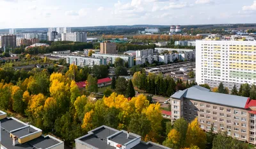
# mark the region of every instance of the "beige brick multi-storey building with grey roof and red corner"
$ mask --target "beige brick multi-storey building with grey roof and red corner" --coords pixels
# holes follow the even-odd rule
[[[214,93],[201,86],[177,91],[171,96],[172,120],[198,118],[201,129],[214,133],[227,130],[228,136],[256,144],[256,100]]]

